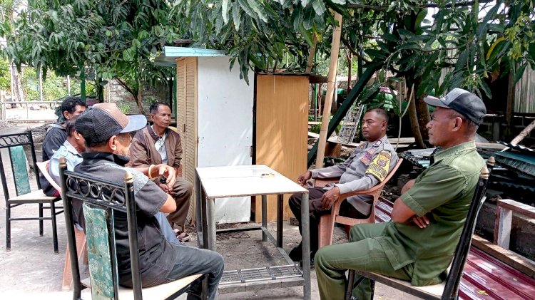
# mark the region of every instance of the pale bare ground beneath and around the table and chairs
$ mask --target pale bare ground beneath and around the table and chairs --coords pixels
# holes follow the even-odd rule
[[[39,124],[37,124],[39,125]],[[2,129],[2,133],[15,133],[26,129],[18,125]],[[4,160],[7,157],[2,152]],[[35,180],[34,180],[35,185]],[[14,187],[8,187],[13,192]],[[0,190],[1,197],[4,197]],[[5,211],[5,202],[0,201]],[[37,214],[37,205],[23,205],[12,211],[17,217]],[[275,222],[268,226],[275,232]],[[243,226],[242,224],[238,226]],[[296,226],[284,225],[284,248],[290,251],[300,240]],[[193,230],[193,229],[192,229]],[[192,234],[193,235],[193,234]],[[66,232],[63,214],[58,215],[59,254],[54,254],[51,223],[44,222],[44,237],[39,237],[37,221],[12,222],[11,252],[6,252],[6,219],[0,217],[0,299],[72,299],[71,291],[61,291],[65,261]],[[335,228],[335,243],[347,242],[345,233]],[[196,245],[191,239],[188,244]],[[280,254],[270,242],[262,242],[258,231],[218,235],[218,251],[225,257],[225,269],[245,269],[283,264]],[[312,299],[319,299],[315,270],[312,269]],[[88,297],[85,297],[88,299]],[[185,295],[178,299],[185,299]],[[302,299],[302,288],[270,289],[247,293],[223,294],[219,299]],[[375,299],[417,299],[382,284],[376,286]]]

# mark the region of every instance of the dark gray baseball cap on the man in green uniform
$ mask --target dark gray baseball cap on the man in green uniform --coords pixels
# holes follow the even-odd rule
[[[442,98],[425,97],[424,101],[431,106],[451,108],[477,125],[481,124],[486,115],[485,103],[474,93],[462,88],[454,88]]]

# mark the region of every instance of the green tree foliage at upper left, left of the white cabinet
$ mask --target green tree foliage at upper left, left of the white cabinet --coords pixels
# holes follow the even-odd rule
[[[118,79],[141,108],[143,84],[165,83],[172,74],[151,63],[178,38],[169,12],[169,1],[29,0],[12,24],[1,24],[0,35],[18,68],[81,77],[91,67],[97,82]]]

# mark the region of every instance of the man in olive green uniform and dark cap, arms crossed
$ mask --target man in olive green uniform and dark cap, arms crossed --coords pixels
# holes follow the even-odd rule
[[[442,150],[394,202],[391,222],[357,225],[349,243],[317,252],[321,299],[344,298],[347,269],[396,277],[414,286],[439,284],[446,278],[484,167],[474,135],[486,108],[477,95],[460,88],[425,101],[436,107],[427,123],[429,142]],[[356,286],[353,296],[370,299],[370,281]]]

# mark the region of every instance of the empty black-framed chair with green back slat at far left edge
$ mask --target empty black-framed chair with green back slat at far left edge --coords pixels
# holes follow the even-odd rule
[[[33,167],[35,172],[35,178],[37,182],[37,188],[41,190],[41,183],[39,183],[39,168],[37,167],[37,160],[36,160],[36,154],[35,154],[35,148],[34,148],[34,139],[31,136],[31,130],[26,130],[24,133],[14,133],[9,135],[0,135],[0,149],[8,149],[14,148],[17,146],[24,146],[28,145],[31,150],[31,161],[28,160],[28,157],[26,155],[26,160],[29,163],[31,167]],[[11,152],[9,153],[11,158]],[[13,170],[13,164],[10,162],[11,165],[11,172],[13,176],[15,177],[15,170]],[[29,172],[29,170],[28,170]],[[24,200],[16,200],[9,197],[9,189],[7,185],[7,179],[6,179],[6,169],[4,168],[4,161],[2,160],[2,155],[0,153],[0,175],[1,175],[1,182],[2,187],[4,189],[4,198],[6,200],[6,251],[11,251],[11,222],[12,221],[30,221],[30,220],[39,220],[39,236],[43,236],[44,227],[43,227],[43,221],[44,220],[51,220],[52,222],[52,236],[54,241],[54,253],[58,254],[58,231],[56,226],[56,215],[61,214],[63,212],[63,207],[56,207],[56,202],[61,200],[60,197],[46,197],[43,195],[41,199],[24,199]],[[15,180],[14,180],[15,182]],[[15,184],[16,185],[16,184]],[[16,186],[16,194],[19,195],[19,187]],[[23,194],[25,195],[25,194]],[[39,197],[37,197],[39,198]],[[39,217],[11,217],[11,210],[14,209],[14,207],[18,207],[20,205],[28,205],[28,204],[39,204]],[[43,210],[50,210],[50,217],[43,217]],[[59,210],[59,211],[58,211]]]

